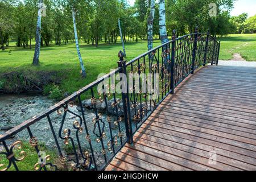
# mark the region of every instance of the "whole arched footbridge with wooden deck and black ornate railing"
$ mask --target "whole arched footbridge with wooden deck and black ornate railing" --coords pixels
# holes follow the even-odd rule
[[[0,170],[23,169],[23,140],[13,142],[21,132],[42,158],[38,142],[46,138],[35,135],[36,122],[44,122],[44,131],[52,133],[47,140],[54,142],[59,157],[57,164],[49,155],[47,163],[36,159],[38,171],[255,170],[256,67],[218,65],[219,52],[220,42],[197,30],[179,38],[174,31],[170,42],[128,63],[119,52],[117,69],[0,134]],[[137,85],[129,77],[131,87],[126,81],[127,90],[110,93],[115,85],[106,82],[119,73],[127,78],[136,73]],[[144,79],[142,73],[153,76]],[[156,85],[156,97],[148,97],[152,88],[142,92],[144,82]],[[93,119],[86,113],[88,100],[81,100],[88,97]]]

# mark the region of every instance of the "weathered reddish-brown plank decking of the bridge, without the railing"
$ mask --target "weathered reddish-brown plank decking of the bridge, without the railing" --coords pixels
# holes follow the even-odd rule
[[[106,168],[241,169],[256,169],[256,68],[227,66],[187,77]]]

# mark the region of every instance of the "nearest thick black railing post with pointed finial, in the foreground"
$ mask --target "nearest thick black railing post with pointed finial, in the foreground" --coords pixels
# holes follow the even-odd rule
[[[119,61],[118,67],[122,68],[120,73],[123,73],[126,75],[126,80],[124,81],[126,83],[126,93],[123,93],[122,91],[122,102],[123,102],[123,114],[125,117],[125,130],[126,130],[126,137],[127,142],[132,144],[133,143],[133,128],[131,125],[131,112],[130,112],[130,102],[129,102],[129,88],[128,88],[128,80],[127,80],[127,72],[126,72],[126,61],[123,60],[124,53],[122,51],[119,51],[118,57]]]

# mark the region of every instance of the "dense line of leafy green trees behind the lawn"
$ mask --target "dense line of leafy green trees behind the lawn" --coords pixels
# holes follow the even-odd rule
[[[0,0],[0,40],[2,49],[15,40],[16,46],[31,48],[35,40],[39,0]],[[154,1],[152,35],[160,38],[159,4]],[[147,40],[148,18],[152,12],[151,0],[136,0],[130,6],[126,0],[43,0],[46,17],[42,17],[40,46],[63,45],[75,41],[72,12],[76,15],[79,41],[98,46],[99,42],[116,43],[120,19],[124,42]],[[166,29],[177,35],[200,31],[214,35],[255,32],[255,16],[246,14],[230,17],[234,0],[165,0]],[[216,16],[209,16],[209,4],[216,3]]]

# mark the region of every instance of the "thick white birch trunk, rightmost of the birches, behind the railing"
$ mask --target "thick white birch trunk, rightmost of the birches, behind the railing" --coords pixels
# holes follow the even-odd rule
[[[159,32],[162,44],[168,42],[168,36],[166,31],[166,7],[164,0],[159,0]]]

